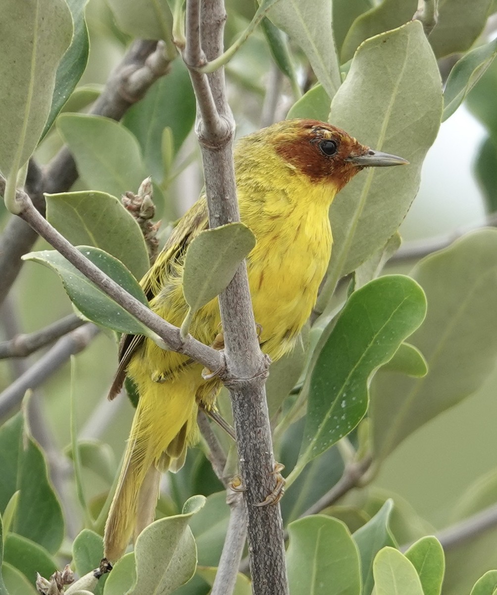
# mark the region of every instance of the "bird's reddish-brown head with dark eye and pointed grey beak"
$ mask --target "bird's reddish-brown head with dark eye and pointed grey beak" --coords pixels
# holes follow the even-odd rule
[[[267,130],[274,135],[277,154],[314,183],[330,183],[337,190],[365,167],[409,163],[401,157],[373,151],[344,130],[319,120],[286,120],[273,126]]]

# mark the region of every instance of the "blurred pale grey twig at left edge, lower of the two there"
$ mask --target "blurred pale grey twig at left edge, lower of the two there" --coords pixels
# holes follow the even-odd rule
[[[40,215],[41,217],[41,215]],[[0,393],[0,418],[18,406],[27,390],[36,389],[50,375],[65,364],[73,353],[79,353],[98,333],[94,324],[85,324],[62,337],[35,364]]]

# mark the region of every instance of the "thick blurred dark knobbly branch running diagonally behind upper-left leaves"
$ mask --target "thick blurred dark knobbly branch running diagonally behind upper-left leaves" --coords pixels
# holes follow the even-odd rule
[[[112,74],[103,92],[90,110],[91,114],[121,120],[126,111],[139,101],[159,77],[169,70],[163,42],[137,40]],[[74,157],[64,147],[50,161],[43,173],[30,160],[26,192],[36,208],[45,212],[43,193],[67,192],[78,179]],[[3,192],[2,192],[3,194]],[[18,217],[11,217],[0,237],[0,303],[9,292],[21,269],[21,256],[33,248],[37,233]]]

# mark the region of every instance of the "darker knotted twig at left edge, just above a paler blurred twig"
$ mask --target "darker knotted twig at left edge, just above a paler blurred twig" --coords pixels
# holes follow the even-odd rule
[[[25,358],[37,349],[53,343],[56,339],[74,331],[75,328],[83,324],[84,321],[81,318],[78,318],[75,314],[69,314],[48,327],[36,331],[36,333],[18,334],[12,339],[0,343],[0,359]]]

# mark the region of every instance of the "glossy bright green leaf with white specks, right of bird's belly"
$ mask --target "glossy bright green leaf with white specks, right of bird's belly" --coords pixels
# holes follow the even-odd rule
[[[403,275],[380,277],[350,296],[321,338],[308,380],[307,418],[296,469],[356,427],[368,408],[371,374],[392,358],[425,313],[423,290]]]

